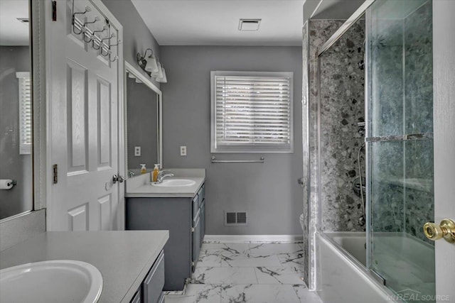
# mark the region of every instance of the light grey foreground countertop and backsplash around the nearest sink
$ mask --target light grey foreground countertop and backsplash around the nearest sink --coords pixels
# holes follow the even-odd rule
[[[169,238],[168,231],[48,231],[0,252],[0,269],[80,260],[103,279],[98,302],[129,302]]]

